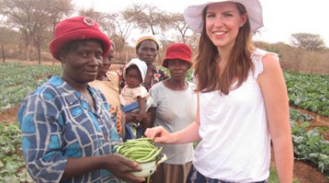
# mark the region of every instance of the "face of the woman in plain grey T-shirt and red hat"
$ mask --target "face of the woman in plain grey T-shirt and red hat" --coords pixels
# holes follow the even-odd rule
[[[184,60],[174,59],[167,60],[168,69],[170,71],[171,79],[184,81],[188,69],[190,69],[191,64]]]

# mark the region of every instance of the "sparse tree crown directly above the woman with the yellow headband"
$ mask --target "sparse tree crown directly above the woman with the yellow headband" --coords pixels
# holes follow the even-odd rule
[[[150,31],[151,34],[156,35],[160,30],[167,28],[167,13],[154,5],[133,4],[122,13],[127,22],[134,23],[143,32]]]

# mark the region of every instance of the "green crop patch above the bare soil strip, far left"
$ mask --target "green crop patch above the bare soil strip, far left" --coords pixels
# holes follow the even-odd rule
[[[20,103],[27,93],[47,80],[47,75],[58,75],[60,71],[60,66],[0,64],[0,112]]]

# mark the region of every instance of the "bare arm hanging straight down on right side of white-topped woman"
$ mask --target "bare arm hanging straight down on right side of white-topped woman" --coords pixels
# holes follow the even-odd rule
[[[293,182],[293,143],[289,124],[289,99],[280,63],[274,56],[263,58],[258,84],[265,100],[267,121],[281,183]]]

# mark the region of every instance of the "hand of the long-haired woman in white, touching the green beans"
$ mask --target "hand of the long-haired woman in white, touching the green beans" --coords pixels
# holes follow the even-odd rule
[[[162,126],[147,128],[145,136],[151,138],[154,143],[172,143],[171,134]]]

